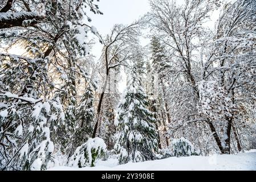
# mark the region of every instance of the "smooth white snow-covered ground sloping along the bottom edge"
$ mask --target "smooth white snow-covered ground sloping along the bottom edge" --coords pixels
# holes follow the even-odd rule
[[[117,165],[116,159],[99,161],[96,167],[70,168],[55,167],[50,171],[210,171],[210,170],[254,170],[256,171],[256,150],[238,155],[189,156],[168,158],[141,163]]]

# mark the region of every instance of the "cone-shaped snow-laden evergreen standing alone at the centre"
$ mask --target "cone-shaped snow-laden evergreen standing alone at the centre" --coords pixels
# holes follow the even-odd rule
[[[156,159],[156,121],[147,109],[147,94],[140,84],[137,69],[134,67],[115,121],[118,131],[115,135],[115,150],[120,153],[120,164]]]

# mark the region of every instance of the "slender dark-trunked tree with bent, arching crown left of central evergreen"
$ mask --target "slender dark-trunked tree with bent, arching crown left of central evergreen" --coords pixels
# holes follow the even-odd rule
[[[135,45],[138,44],[137,37],[140,35],[142,23],[143,20],[138,20],[129,25],[115,24],[110,35],[107,35],[105,39],[101,39],[104,44],[101,60],[102,65],[104,65],[105,68],[105,77],[103,78],[99,104],[97,105],[96,124],[92,138],[96,137],[96,133],[100,125],[101,106],[103,104],[111,71],[126,64],[127,60],[132,59]]]

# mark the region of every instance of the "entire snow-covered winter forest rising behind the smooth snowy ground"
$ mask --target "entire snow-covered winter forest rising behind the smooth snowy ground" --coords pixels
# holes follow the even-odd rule
[[[148,3],[101,34],[99,0],[0,0],[1,170],[256,148],[256,1]]]

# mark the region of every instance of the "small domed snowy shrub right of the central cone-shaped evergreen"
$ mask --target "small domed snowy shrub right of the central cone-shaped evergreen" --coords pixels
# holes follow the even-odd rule
[[[173,139],[170,148],[172,155],[176,157],[198,155],[193,144],[184,137]]]

